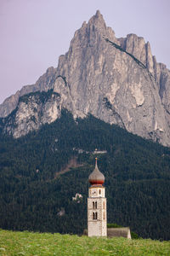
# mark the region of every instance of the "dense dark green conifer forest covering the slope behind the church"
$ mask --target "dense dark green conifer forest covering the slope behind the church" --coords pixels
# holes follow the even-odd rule
[[[0,228],[82,234],[88,175],[105,175],[109,223],[144,238],[169,240],[170,148],[89,115],[60,119],[25,137],[0,135]],[[66,170],[71,160],[76,167]],[[68,171],[68,170],[67,170]],[[77,193],[82,199],[73,201]]]

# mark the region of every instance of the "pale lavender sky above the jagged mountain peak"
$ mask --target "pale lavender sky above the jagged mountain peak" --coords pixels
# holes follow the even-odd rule
[[[116,38],[143,37],[170,69],[170,0],[0,0],[0,103],[57,67],[97,9]]]

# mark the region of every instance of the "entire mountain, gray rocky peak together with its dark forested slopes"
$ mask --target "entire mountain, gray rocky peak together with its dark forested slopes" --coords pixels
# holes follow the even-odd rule
[[[99,11],[84,22],[58,67],[1,105],[0,228],[82,234],[98,148],[108,222],[169,240],[168,84],[143,38],[116,38]]]

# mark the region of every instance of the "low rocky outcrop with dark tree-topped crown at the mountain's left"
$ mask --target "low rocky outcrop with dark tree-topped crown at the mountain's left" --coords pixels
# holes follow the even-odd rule
[[[22,96],[14,113],[3,119],[4,131],[15,138],[24,136],[43,124],[54,122],[60,117],[60,112],[60,96],[53,90]]]

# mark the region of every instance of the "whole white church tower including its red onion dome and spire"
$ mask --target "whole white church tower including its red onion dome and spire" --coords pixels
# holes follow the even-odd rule
[[[94,171],[88,177],[88,236],[107,236],[105,176],[99,172],[97,158]]]

